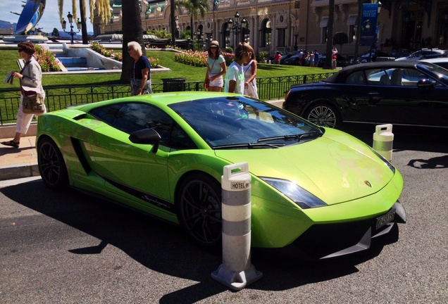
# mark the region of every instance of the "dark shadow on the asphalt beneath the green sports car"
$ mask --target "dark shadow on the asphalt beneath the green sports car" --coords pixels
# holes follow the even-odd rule
[[[150,270],[199,282],[163,296],[161,303],[195,303],[228,290],[211,279],[211,272],[222,263],[220,251],[205,251],[197,247],[178,225],[74,189],[50,191],[41,180],[8,186],[0,191],[16,203],[101,240],[91,246],[70,248],[70,253],[101,254],[110,244]],[[321,261],[303,260],[291,247],[253,248],[251,262],[256,270],[263,272],[263,279],[251,284],[250,288],[284,291],[344,277],[358,272],[356,265],[375,258],[387,243],[397,239],[398,229],[387,238],[374,239],[369,251]]]

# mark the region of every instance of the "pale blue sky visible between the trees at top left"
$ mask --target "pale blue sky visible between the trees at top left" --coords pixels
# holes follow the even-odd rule
[[[14,13],[22,13],[22,5],[25,4],[26,0],[0,0],[0,20],[17,23],[19,19],[19,15],[14,15],[10,13],[13,11]],[[90,13],[89,13],[89,1],[87,3],[87,32],[93,32],[93,26],[90,23]],[[77,4],[77,17],[80,18],[80,1],[76,1]],[[72,0],[64,0],[63,6],[63,16],[64,19],[67,19],[68,12],[73,13],[72,11]],[[56,27],[59,31],[62,32],[62,26],[59,22],[59,10],[58,10],[58,0],[46,0],[45,10],[42,14],[42,18],[40,18],[39,23],[37,23],[36,27],[42,28],[42,32],[53,32],[54,27]],[[75,27],[76,29],[76,27]],[[66,30],[70,30],[70,27],[67,25]]]

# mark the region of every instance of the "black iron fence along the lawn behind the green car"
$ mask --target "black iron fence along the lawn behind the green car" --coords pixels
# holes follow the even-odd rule
[[[259,99],[265,101],[283,99],[292,85],[318,82],[332,74],[333,72],[327,72],[313,75],[256,78]],[[130,86],[127,84],[45,87],[44,90],[47,112],[81,103],[94,103],[130,96]],[[152,84],[152,91],[154,93],[164,91],[163,83]],[[185,82],[185,91],[204,91],[204,83]],[[15,122],[19,103],[20,90],[18,88],[0,89],[0,125]]]

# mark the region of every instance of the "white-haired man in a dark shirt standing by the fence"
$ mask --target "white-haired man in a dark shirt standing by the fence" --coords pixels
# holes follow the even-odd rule
[[[147,57],[143,56],[142,46],[137,42],[129,42],[127,51],[134,59],[132,68],[131,95],[152,94],[151,65]]]

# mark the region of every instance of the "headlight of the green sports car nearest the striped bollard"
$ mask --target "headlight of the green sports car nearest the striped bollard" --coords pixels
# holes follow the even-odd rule
[[[290,182],[285,179],[273,179],[270,177],[261,177],[261,179],[270,184],[270,186],[273,186],[282,194],[285,194],[285,196],[294,201],[294,203],[297,203],[297,205],[299,205],[302,209],[323,207],[327,205],[321,199],[313,196],[313,194],[309,193],[294,182]]]

